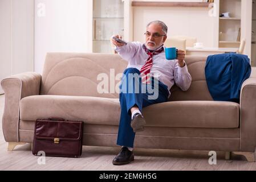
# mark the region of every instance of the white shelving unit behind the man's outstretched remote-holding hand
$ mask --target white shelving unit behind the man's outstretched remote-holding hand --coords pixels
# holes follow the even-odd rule
[[[122,0],[93,2],[93,52],[112,53],[111,36],[124,35],[124,3]]]

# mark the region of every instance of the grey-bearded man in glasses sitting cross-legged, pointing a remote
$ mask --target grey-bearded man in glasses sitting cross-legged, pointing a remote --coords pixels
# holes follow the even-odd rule
[[[191,84],[192,78],[184,60],[185,52],[178,50],[177,60],[165,58],[167,30],[164,22],[156,20],[147,25],[144,44],[131,42],[125,45],[112,39],[115,51],[128,61],[120,84],[121,115],[117,145],[122,147],[113,159],[112,163],[115,165],[128,164],[134,160],[135,133],[143,131],[146,123],[141,114],[143,107],[168,101],[169,90],[174,82],[184,91]],[[115,37],[121,39],[119,35]],[[131,74],[135,76],[130,77]],[[136,84],[139,85],[139,92],[136,92]],[[149,99],[154,87],[157,87],[157,97]]]

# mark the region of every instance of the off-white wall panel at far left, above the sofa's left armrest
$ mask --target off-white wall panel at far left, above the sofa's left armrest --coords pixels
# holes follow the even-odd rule
[[[33,6],[33,0],[0,0],[0,80],[33,71]]]

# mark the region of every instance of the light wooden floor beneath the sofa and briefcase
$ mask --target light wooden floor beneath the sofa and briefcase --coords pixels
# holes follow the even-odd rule
[[[83,147],[81,158],[46,157],[46,164],[38,164],[38,156],[30,144],[7,151],[2,133],[4,95],[0,96],[0,170],[256,170],[241,155],[225,160],[224,152],[217,152],[217,164],[208,163],[209,151],[145,150],[135,149],[135,161],[125,166],[113,166],[112,160],[119,147]]]

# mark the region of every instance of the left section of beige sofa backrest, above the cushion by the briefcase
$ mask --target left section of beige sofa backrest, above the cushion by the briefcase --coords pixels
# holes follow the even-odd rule
[[[117,54],[47,53],[40,94],[119,98],[119,94],[109,88],[110,77],[123,73],[126,67],[127,61]],[[103,81],[103,78],[97,80],[100,73],[108,77],[105,79],[108,93],[97,92],[97,85]],[[115,85],[118,82],[115,80]]]

